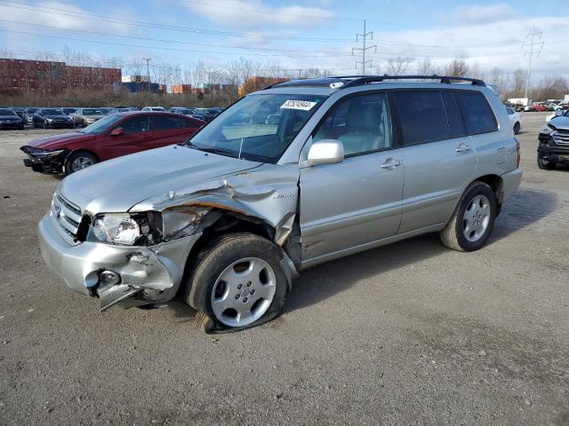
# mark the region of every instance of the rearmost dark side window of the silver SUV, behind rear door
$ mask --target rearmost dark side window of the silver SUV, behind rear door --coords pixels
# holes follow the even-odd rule
[[[479,91],[454,91],[454,99],[461,108],[469,134],[497,130],[492,108]]]

